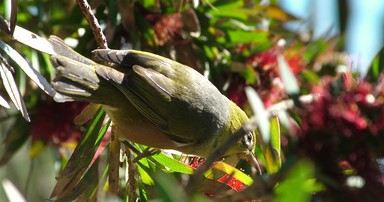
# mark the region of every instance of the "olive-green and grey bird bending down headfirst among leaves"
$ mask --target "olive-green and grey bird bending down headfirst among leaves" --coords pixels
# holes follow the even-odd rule
[[[204,76],[173,60],[137,50],[97,49],[104,66],[78,54],[58,37],[50,43],[57,72],[57,102],[102,104],[121,140],[207,157],[248,121],[247,115]],[[252,165],[255,133],[223,156]],[[258,165],[257,165],[258,166]]]

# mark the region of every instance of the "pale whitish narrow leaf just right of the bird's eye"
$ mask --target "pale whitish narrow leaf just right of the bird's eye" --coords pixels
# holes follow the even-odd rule
[[[253,113],[256,117],[263,141],[268,143],[270,140],[270,123],[268,112],[265,110],[263,102],[253,88],[246,87],[245,93],[247,94],[249,104],[251,105]]]

